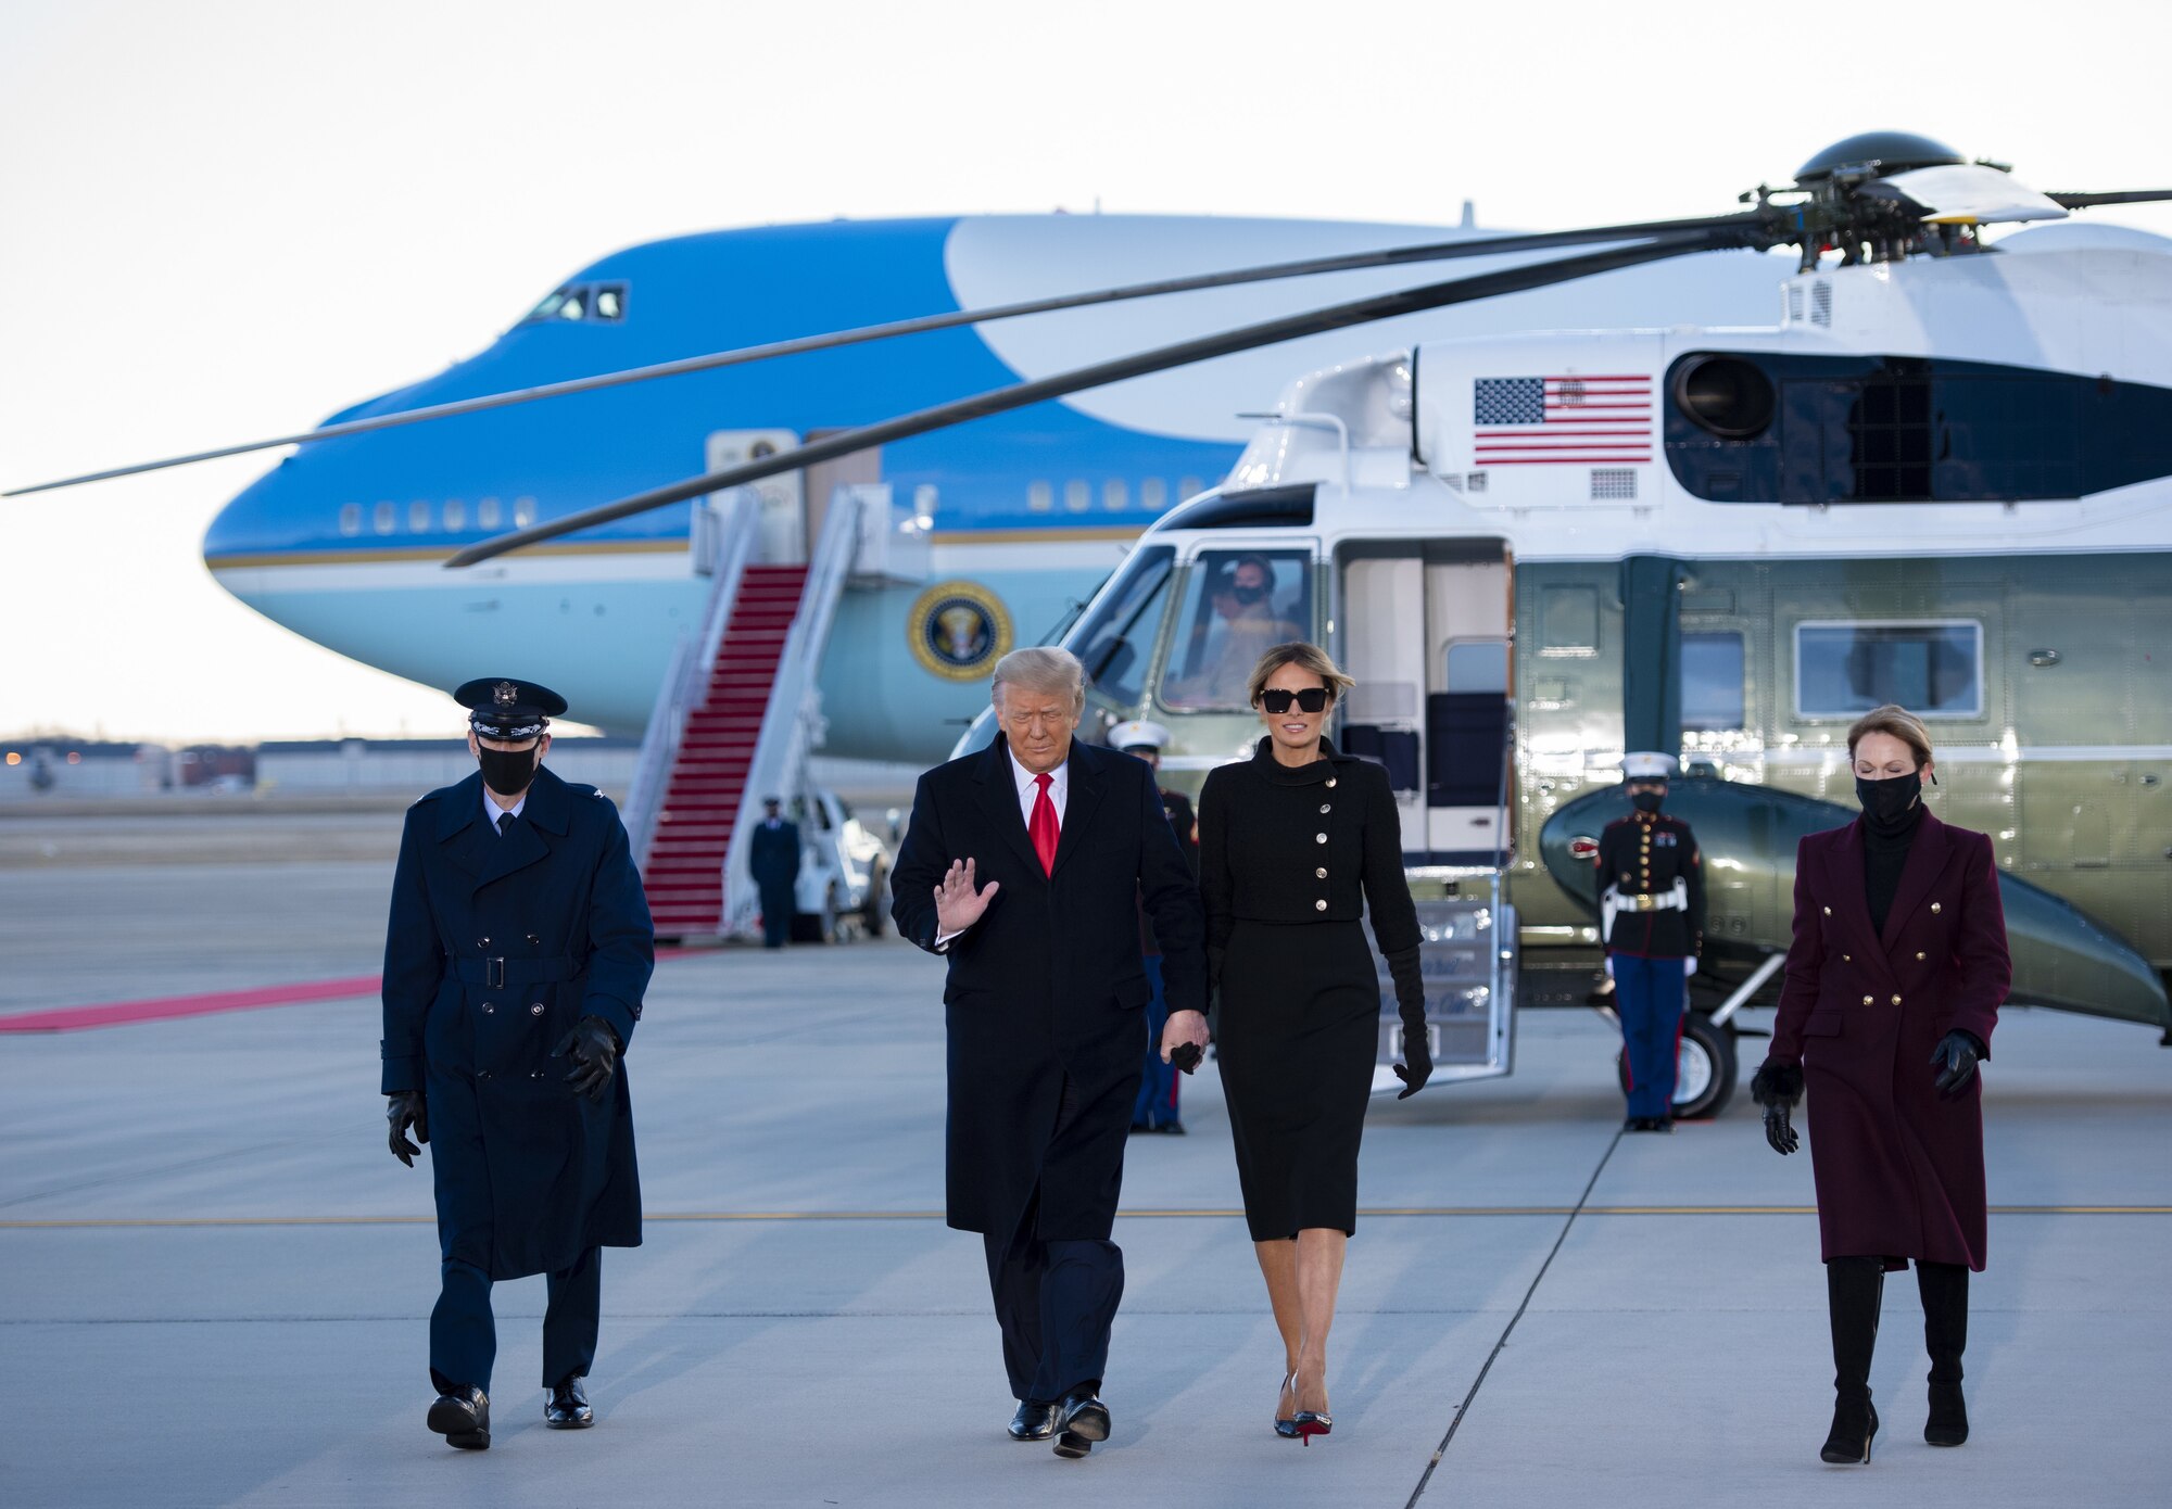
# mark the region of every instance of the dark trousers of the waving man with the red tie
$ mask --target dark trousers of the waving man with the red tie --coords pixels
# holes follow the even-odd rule
[[[1073,1114],[1077,1096],[1064,1081],[1058,1129]],[[988,1246],[995,1322],[1003,1327],[1010,1394],[1053,1405],[1075,1387],[1101,1387],[1108,1331],[1123,1298],[1123,1248],[1093,1240],[1045,1242],[1034,1231],[1038,1222],[1040,1190],[1034,1190],[1016,1231],[990,1231],[982,1240]]]

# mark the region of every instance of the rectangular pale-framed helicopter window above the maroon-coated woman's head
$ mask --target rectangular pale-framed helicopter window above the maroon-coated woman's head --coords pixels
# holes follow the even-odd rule
[[[1983,625],[1798,623],[1794,703],[1805,719],[1853,719],[1885,703],[1927,719],[1983,717]]]

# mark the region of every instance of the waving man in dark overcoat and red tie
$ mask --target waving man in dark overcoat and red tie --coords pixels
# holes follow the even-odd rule
[[[1201,1047],[1205,918],[1153,771],[1071,736],[1077,658],[1012,651],[993,697],[995,743],[921,777],[891,914],[949,960],[949,1225],[986,1244],[1010,1435],[1084,1457],[1110,1431],[1110,1231],[1153,994],[1138,912],[1162,944],[1171,1031]]]

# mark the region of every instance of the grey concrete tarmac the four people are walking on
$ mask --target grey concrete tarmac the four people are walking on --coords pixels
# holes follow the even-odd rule
[[[1190,1136],[1132,1142],[1114,1437],[1069,1463],[1003,1435],[980,1240],[940,1218],[940,964],[895,940],[660,962],[628,1053],[647,1240],[604,1257],[597,1426],[543,1429],[526,1279],[497,1292],[495,1444],[447,1450],[424,1429],[430,1179],[384,1151],[374,999],[7,1031],[371,973],[397,814],[250,821],[258,840],[0,821],[0,1502],[2163,1502],[2155,1031],[2007,1014],[1974,1433],[1922,1442],[1896,1275],[1868,1468],[1818,1461],[1809,1159],[1775,1157],[1746,1099],[1620,1136],[1588,1012],[1525,1012],[1510,1079],[1373,1103],[1336,1429],[1277,1440],[1281,1351],[1210,1062]]]

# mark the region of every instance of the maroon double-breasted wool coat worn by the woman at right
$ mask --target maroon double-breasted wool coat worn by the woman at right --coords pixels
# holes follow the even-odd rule
[[[2013,977],[1992,840],[1929,812],[1885,931],[1864,899],[1864,825],[1803,838],[1794,947],[1766,1062],[1801,1064],[1824,1257],[1983,1270],[1983,1077],[1933,1088],[1955,1027],[1990,1057]]]

